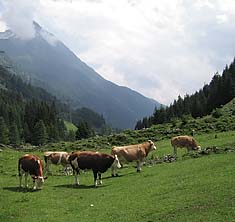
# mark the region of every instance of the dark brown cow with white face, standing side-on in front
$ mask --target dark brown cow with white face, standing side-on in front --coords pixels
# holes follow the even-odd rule
[[[93,151],[72,152],[69,162],[73,168],[75,185],[79,185],[78,173],[80,170],[91,169],[94,176],[94,186],[102,184],[101,174],[106,172],[111,166],[120,168],[121,165],[117,156]],[[98,179],[97,179],[98,175]]]

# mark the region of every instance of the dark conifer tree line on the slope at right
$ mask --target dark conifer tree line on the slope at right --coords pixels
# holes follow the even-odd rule
[[[210,114],[214,109],[225,105],[235,97],[235,59],[225,67],[222,75],[216,73],[209,84],[192,95],[178,96],[167,107],[155,108],[153,115],[144,117],[136,123],[135,129],[148,128],[152,125],[171,122],[190,115],[193,118]]]

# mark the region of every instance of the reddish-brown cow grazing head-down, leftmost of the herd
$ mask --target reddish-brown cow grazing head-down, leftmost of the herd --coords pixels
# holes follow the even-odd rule
[[[33,190],[42,189],[44,180],[43,177],[43,163],[42,160],[33,154],[26,154],[19,158],[18,173],[20,179],[20,188],[23,188],[22,177],[25,176],[25,187],[28,188],[28,175],[30,174],[33,179]]]

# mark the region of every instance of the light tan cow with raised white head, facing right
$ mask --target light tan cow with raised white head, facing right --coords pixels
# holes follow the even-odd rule
[[[137,162],[137,172],[141,172],[141,167],[144,159],[148,156],[149,152],[156,150],[156,146],[151,140],[145,143],[128,145],[128,146],[116,146],[112,148],[111,154],[117,155],[120,162]],[[112,169],[112,176],[117,176],[117,168]]]

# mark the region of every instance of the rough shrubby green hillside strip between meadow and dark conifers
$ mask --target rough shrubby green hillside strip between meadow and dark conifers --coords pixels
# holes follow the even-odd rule
[[[125,130],[119,134],[96,136],[73,143],[54,144],[53,146],[59,146],[61,149],[69,151],[78,149],[78,147],[79,149],[99,150],[110,149],[117,145],[142,143],[148,139],[159,142],[177,135],[208,134],[215,137],[216,134],[228,131],[235,131],[235,99],[203,118],[194,119],[191,116],[186,116],[182,120],[173,120],[170,123],[153,125],[146,129]],[[49,148],[51,148],[51,144],[45,147],[45,149]]]

